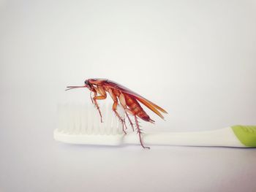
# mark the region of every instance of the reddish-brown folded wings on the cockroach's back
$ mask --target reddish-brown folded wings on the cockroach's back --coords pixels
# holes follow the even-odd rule
[[[154,104],[151,101],[148,101],[148,99],[145,99],[143,96],[140,96],[138,93],[135,93],[134,91],[130,90],[129,88],[124,87],[123,85],[118,84],[117,82],[113,82],[111,80],[106,80],[104,82],[105,85],[107,85],[110,88],[117,89],[119,91],[122,91],[124,93],[129,94],[133,98],[140,101],[140,103],[144,104],[148,109],[159,115],[160,118],[164,118],[164,116],[160,112],[167,113],[164,109],[159,107],[157,104]],[[160,111],[160,112],[159,112]]]

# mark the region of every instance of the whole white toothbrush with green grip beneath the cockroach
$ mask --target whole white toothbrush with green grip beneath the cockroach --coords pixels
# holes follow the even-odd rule
[[[118,107],[121,115],[124,111]],[[62,104],[58,107],[56,141],[84,145],[140,145],[136,132],[124,134],[110,105],[102,105],[103,123],[92,105]],[[230,126],[211,131],[154,132],[143,134],[146,145],[256,147],[256,126]]]

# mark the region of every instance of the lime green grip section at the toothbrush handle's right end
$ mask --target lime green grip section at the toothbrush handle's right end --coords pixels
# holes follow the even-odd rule
[[[256,126],[232,126],[236,137],[246,147],[256,147]]]

